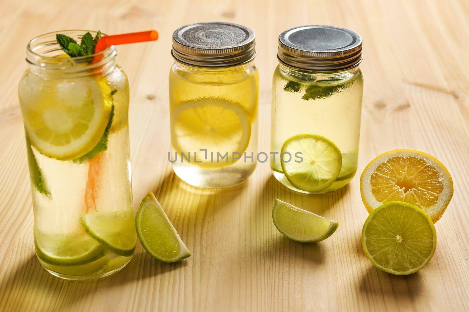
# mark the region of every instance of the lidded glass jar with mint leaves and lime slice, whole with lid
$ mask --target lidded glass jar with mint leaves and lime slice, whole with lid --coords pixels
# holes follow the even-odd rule
[[[302,193],[340,189],[357,168],[362,38],[340,27],[296,27],[280,34],[277,56],[280,64],[272,80],[273,175]]]

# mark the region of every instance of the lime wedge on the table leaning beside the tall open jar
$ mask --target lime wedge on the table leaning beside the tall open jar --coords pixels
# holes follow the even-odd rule
[[[135,226],[140,243],[152,257],[175,262],[191,255],[153,193],[138,207]]]

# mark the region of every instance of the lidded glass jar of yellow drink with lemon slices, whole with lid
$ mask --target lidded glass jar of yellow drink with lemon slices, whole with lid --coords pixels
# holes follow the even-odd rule
[[[254,33],[226,22],[190,24],[174,31],[171,53],[168,160],[175,174],[202,188],[245,181],[257,164]]]

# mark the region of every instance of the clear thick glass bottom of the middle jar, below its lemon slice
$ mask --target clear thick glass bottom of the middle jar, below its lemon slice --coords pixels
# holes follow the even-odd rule
[[[173,164],[174,173],[184,182],[203,189],[227,189],[246,181],[256,163],[243,163],[208,169],[195,165]]]

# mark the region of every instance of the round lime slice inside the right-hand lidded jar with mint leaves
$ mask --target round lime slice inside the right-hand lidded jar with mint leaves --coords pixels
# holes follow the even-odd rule
[[[300,161],[295,157],[298,152],[303,158],[301,162],[296,162]],[[342,166],[339,148],[331,140],[315,134],[298,134],[287,139],[281,155],[282,171],[287,180],[306,192],[327,189],[339,176]],[[284,161],[288,159],[289,162]]]

